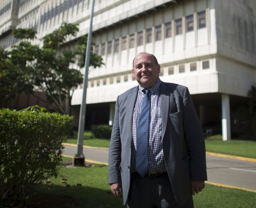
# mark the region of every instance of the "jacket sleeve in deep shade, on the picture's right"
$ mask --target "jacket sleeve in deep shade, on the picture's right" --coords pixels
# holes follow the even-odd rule
[[[204,135],[188,88],[184,90],[183,112],[185,143],[190,158],[190,180],[207,180]]]

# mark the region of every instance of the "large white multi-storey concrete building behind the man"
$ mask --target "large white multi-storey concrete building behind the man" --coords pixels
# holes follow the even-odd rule
[[[92,0],[2,0],[0,46],[15,43],[13,28],[35,28],[38,44],[64,21],[89,32]],[[241,132],[237,107],[256,85],[255,0],[95,0],[92,38],[104,66],[89,70],[86,126],[112,125],[116,97],[137,85],[132,61],[152,53],[160,79],[189,88],[210,134]],[[71,46],[72,48],[72,46]],[[82,87],[72,99],[78,122]],[[75,125],[78,125],[75,122]],[[216,132],[214,132],[216,130]]]

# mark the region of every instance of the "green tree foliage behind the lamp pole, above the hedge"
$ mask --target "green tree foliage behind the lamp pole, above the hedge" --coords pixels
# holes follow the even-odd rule
[[[43,37],[43,47],[40,48],[31,43],[31,40],[36,38],[33,29],[15,29],[14,37],[22,40],[12,46],[11,51],[1,51],[3,64],[0,65],[0,81],[6,82],[3,82],[4,86],[0,85],[0,96],[6,97],[8,80],[12,80],[11,83],[17,87],[9,86],[8,102],[22,91],[31,93],[33,88],[39,88],[46,93],[47,101],[57,106],[58,112],[70,115],[73,92],[83,82],[81,69],[85,65],[87,46],[87,36],[84,36],[76,47],[71,48],[76,43],[71,38],[75,37],[78,31],[76,24],[62,23],[60,28]],[[71,67],[71,64],[75,63],[75,57],[78,69]],[[101,65],[104,65],[101,56],[91,52],[90,66],[96,68]],[[15,76],[19,79],[13,79]],[[7,99],[5,100],[0,106],[8,104]]]

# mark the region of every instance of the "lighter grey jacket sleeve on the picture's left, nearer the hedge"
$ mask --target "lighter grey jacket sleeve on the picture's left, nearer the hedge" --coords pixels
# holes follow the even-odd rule
[[[121,183],[121,140],[119,128],[119,97],[115,104],[114,124],[109,146],[109,184]]]

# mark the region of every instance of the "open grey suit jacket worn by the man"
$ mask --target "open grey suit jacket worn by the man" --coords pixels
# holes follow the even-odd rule
[[[109,184],[122,183],[123,203],[130,188],[133,107],[138,87],[116,101],[109,147]],[[190,180],[207,180],[205,144],[201,125],[188,88],[160,85],[162,147],[168,176],[177,202],[182,206],[191,195]]]

